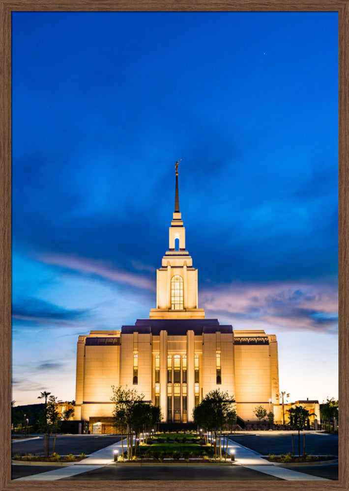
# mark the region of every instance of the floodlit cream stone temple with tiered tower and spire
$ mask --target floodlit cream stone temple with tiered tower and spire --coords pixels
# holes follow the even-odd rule
[[[79,336],[74,419],[110,424],[112,385],[143,393],[160,406],[163,422],[191,422],[193,409],[213,389],[229,393],[244,421],[256,421],[257,406],[281,419],[276,336],[221,325],[199,308],[198,270],[186,249],[179,211],[177,164],[156,308],[133,326]]]

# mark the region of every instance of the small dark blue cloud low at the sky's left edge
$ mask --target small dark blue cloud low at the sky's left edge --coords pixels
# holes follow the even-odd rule
[[[65,309],[46,300],[28,298],[12,305],[12,318],[33,324],[53,323],[69,325],[90,315],[90,309]]]

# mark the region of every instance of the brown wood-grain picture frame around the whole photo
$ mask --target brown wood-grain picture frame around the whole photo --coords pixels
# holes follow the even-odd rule
[[[339,480],[11,481],[11,13],[332,11],[339,15]],[[0,490],[349,490],[349,0],[0,0]]]

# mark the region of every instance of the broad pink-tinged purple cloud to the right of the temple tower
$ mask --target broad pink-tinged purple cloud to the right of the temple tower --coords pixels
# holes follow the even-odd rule
[[[338,327],[338,291],[334,285],[234,283],[206,289],[201,298],[206,317],[223,317],[237,329],[272,326],[332,334]]]

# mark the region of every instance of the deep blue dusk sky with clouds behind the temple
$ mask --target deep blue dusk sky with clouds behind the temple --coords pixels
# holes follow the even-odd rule
[[[199,307],[338,397],[336,12],[12,14],[13,395],[156,307],[174,164]]]

